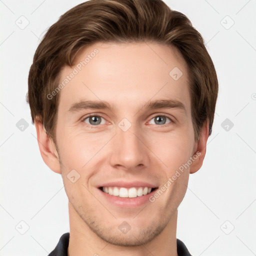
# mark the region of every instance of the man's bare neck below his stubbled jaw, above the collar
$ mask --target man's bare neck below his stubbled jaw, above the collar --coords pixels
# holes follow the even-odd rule
[[[177,211],[155,238],[138,246],[119,246],[107,243],[98,237],[77,214],[72,204],[68,202],[69,211],[69,244],[67,256],[107,256],[107,255],[168,255],[178,256],[176,246]]]

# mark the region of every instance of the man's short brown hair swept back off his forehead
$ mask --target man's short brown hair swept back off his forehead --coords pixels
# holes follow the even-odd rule
[[[32,122],[36,116],[55,142],[61,68],[72,66],[78,50],[99,41],[153,41],[175,46],[189,77],[191,116],[195,139],[206,119],[211,134],[218,81],[200,33],[181,12],[162,0],[88,0],[71,8],[49,27],[38,45],[28,75],[27,102]]]

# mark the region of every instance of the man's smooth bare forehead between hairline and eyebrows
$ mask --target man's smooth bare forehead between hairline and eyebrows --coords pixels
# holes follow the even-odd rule
[[[82,100],[104,100],[118,108],[127,104],[141,107],[139,103],[147,100],[175,99],[190,109],[184,59],[173,46],[156,42],[86,46],[72,67],[63,67],[61,82],[59,108],[67,109]]]

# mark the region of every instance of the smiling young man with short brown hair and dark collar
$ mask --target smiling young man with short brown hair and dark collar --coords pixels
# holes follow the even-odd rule
[[[70,232],[53,255],[190,255],[177,207],[202,165],[218,83],[201,35],[161,0],[89,0],[34,54],[28,101],[63,178]]]

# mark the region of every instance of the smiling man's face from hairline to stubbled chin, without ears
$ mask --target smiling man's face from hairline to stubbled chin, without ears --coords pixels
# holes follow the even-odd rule
[[[170,46],[101,42],[79,52],[74,66],[62,69],[60,83],[72,72],[59,92],[56,124],[61,175],[75,212],[70,217],[107,242],[146,243],[176,213],[189,167],[157,198],[153,188],[166,184],[196,149],[185,62]],[[179,101],[184,108],[148,108],[156,100]],[[76,104],[82,101],[104,101],[111,108]]]

